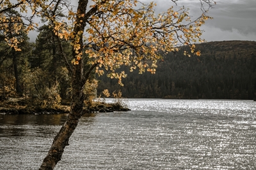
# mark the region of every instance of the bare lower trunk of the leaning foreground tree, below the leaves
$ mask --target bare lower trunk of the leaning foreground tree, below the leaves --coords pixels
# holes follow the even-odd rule
[[[40,170],[52,170],[61,160],[65,146],[68,146],[68,140],[83,115],[83,64],[74,66],[72,75],[72,105],[67,121],[60,129],[60,132],[54,138],[52,146],[45,157]]]

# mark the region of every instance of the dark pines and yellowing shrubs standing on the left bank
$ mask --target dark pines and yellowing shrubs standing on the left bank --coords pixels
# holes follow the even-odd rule
[[[22,43],[20,51],[15,51],[0,37],[0,101],[24,97],[42,108],[58,108],[63,99],[70,99],[70,42],[59,39],[49,25],[38,29],[35,43],[29,42],[26,32],[8,36]],[[88,96],[96,95],[97,85],[92,87],[96,81],[91,80]]]

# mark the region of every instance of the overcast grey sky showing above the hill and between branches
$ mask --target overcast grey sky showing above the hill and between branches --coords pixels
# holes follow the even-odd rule
[[[152,0],[141,0],[148,3]],[[215,0],[216,5],[209,10],[213,17],[202,27],[202,38],[206,41],[248,40],[256,41],[256,0]],[[200,0],[179,0],[177,6],[171,0],[154,0],[156,13],[167,11],[170,6],[189,8],[190,15],[200,15]],[[76,4],[77,0],[72,1]],[[30,39],[35,41],[36,34],[31,32]]]

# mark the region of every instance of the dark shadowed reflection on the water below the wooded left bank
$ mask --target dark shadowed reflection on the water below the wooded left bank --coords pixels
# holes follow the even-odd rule
[[[38,136],[44,136],[49,132],[54,134],[56,133],[55,128],[52,128],[52,131],[50,129],[45,131],[45,127],[59,127],[65,123],[67,117],[67,113],[54,115],[0,115],[0,137],[25,137],[33,133]],[[95,113],[87,113],[81,120],[83,122],[93,122],[91,117],[95,117]]]

